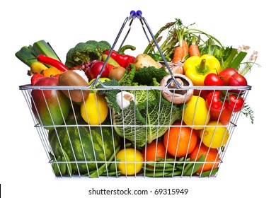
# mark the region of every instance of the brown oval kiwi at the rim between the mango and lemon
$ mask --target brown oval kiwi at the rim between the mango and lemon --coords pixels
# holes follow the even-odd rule
[[[59,74],[59,86],[88,86],[88,83],[79,74],[74,71],[64,71]],[[83,102],[88,98],[90,91],[87,90],[62,90],[62,92],[71,98],[74,102]]]

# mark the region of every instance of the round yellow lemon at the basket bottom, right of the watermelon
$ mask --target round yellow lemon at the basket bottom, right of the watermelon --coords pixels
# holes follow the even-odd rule
[[[117,153],[116,158],[121,161],[117,168],[123,175],[136,175],[142,169],[144,158],[137,149],[122,149]]]

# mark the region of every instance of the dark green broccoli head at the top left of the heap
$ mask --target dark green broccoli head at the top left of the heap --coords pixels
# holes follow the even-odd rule
[[[110,48],[111,45],[105,40],[79,42],[67,52],[65,65],[71,69],[74,66],[80,66],[93,60],[100,60],[101,54],[110,50]]]

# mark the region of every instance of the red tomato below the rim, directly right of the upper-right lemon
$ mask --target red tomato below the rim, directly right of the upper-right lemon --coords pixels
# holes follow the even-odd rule
[[[224,99],[220,91],[209,93],[206,98],[206,106],[210,111],[220,112],[224,109]]]

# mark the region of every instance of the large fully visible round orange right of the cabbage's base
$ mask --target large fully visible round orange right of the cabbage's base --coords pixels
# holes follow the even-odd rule
[[[197,134],[194,129],[181,126],[181,122],[175,122],[164,134],[163,144],[172,156],[183,157],[195,148]]]

